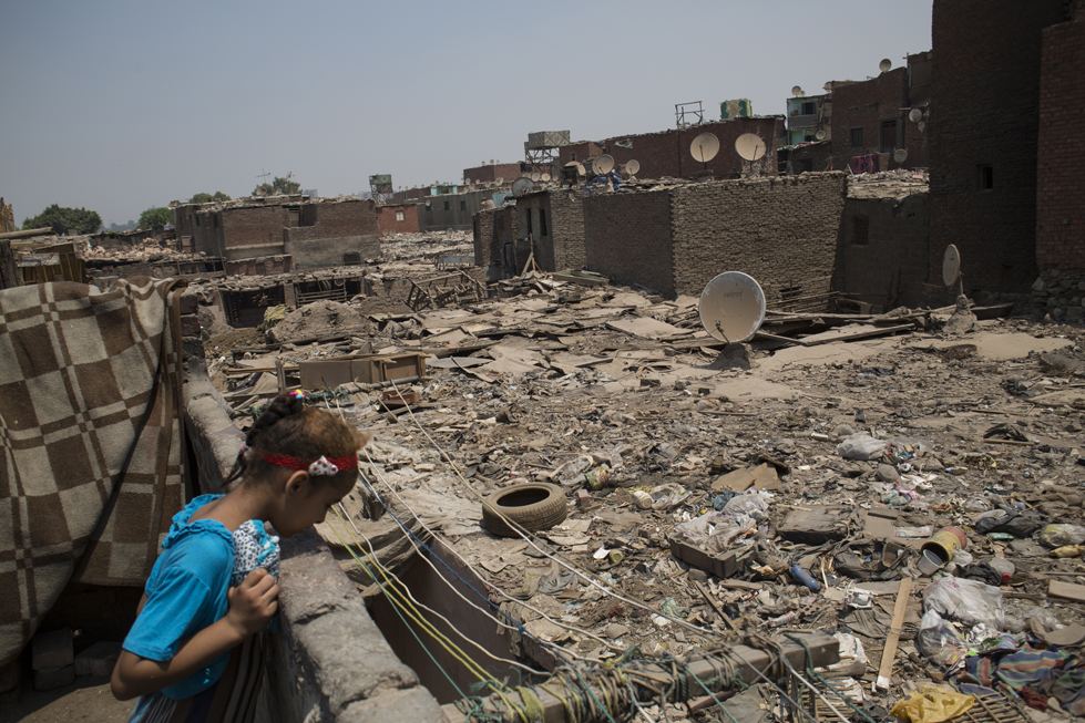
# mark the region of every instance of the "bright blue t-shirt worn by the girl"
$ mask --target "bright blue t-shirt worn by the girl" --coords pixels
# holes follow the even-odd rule
[[[170,660],[183,642],[229,611],[233,537],[217,519],[188,523],[196,510],[219,497],[201,495],[174,515],[162,555],[147,578],[146,605],[124,639],[125,650],[150,660]],[[227,662],[229,652],[162,693],[174,700],[191,698],[214,684]]]

